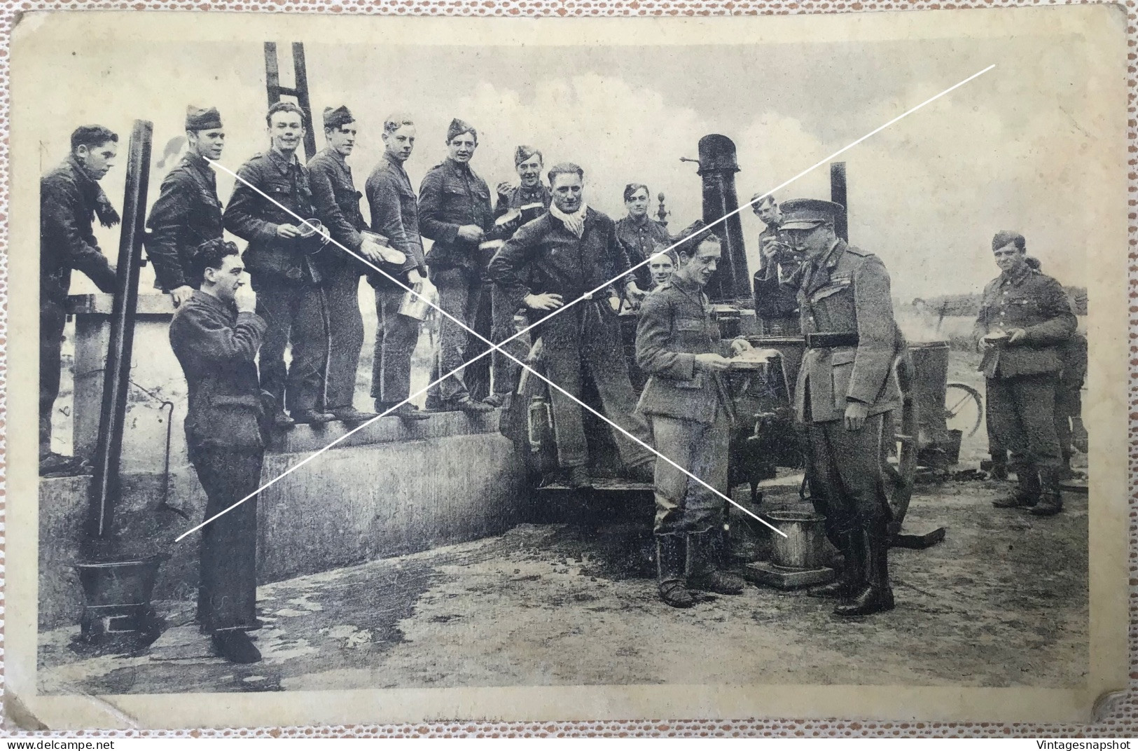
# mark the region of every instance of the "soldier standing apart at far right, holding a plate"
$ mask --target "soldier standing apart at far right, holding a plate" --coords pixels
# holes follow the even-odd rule
[[[984,288],[973,338],[983,353],[988,421],[1011,452],[1019,487],[999,509],[1026,507],[1039,517],[1058,513],[1063,463],[1055,430],[1055,388],[1063,363],[1057,347],[1078,321],[1063,287],[1031,267],[1026,241],[997,232],[992,253],[1000,275]]]

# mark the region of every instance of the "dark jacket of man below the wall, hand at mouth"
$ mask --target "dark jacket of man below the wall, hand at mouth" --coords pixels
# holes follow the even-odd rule
[[[193,448],[258,448],[262,405],[256,356],[267,325],[198,290],[174,312],[170,344],[185,373],[185,440]]]

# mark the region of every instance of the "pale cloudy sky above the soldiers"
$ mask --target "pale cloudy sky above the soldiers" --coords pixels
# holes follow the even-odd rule
[[[747,201],[995,64],[841,157],[850,241],[884,261],[894,296],[907,300],[979,291],[998,273],[990,240],[1006,229],[1021,231],[1029,253],[1063,283],[1086,283],[1095,228],[1081,206],[1097,173],[1083,155],[1100,149],[1086,118],[1102,73],[1088,68],[1080,43],[1072,38],[1042,46],[1015,35],[621,48],[308,43],[306,56],[318,122],[325,106],[346,104],[356,115],[361,134],[351,164],[361,189],[382,152],[386,115],[407,113],[418,124],[407,164],[415,184],[445,157],[447,124],[462,117],[479,130],[472,166],[492,189],[514,176],[513,149],[529,143],[544,151],[546,166],[580,164],[586,200],[613,218],[625,214],[626,183],[646,183],[653,197],[663,192],[673,231],[701,212],[696,166],[681,157],[694,158],[702,135],[734,140],[736,189]],[[289,47],[279,47],[288,83]],[[15,117],[51,115],[40,131],[41,172],[66,156],[79,124],[101,123],[125,142],[133,119],[149,119],[152,203],[172,166],[158,165],[163,149],[181,135],[188,104],[220,108],[229,168],[267,148],[257,43],[132,39],[60,46],[44,55],[43,65],[71,85],[44,90],[34,102],[14,102]],[[316,141],[322,148],[322,132]],[[104,181],[116,206],[124,164],[125,156]],[[228,200],[232,178],[218,173],[217,182]],[[776,198],[828,198],[828,190],[823,165]],[[752,270],[761,229],[745,211]],[[101,231],[99,238],[114,258],[117,232]],[[149,269],[143,278],[149,284]]]

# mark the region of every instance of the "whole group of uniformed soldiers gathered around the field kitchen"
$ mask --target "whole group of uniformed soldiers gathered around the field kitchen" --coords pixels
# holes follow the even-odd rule
[[[670,238],[648,217],[643,184],[626,188],[628,216],[613,221],[587,205],[579,166],[554,165],[546,184],[543,156],[527,146],[514,154],[520,182],[498,184],[492,205],[487,183],[470,166],[478,132],[461,119],[447,130],[447,158],[427,173],[417,195],[404,170],[415,124],[389,116],[384,157],[361,193],[346,160],[357,137],[348,108],[324,110],[328,146],[307,165],[297,156],[304,121],[294,104],[269,108],[270,149],[237,171],[223,207],[214,174],[224,146],[221,116],[191,107],[188,151],[163,182],[148,220],[156,284],[176,306],[170,340],[189,386],[185,432],[208,496],[206,518],[256,492],[273,431],[298,422],[358,423],[380,412],[409,421],[427,416],[407,398],[419,336],[419,319],[407,307],[429,280],[440,321],[427,411],[477,414],[502,406],[516,389],[527,341],[539,338],[558,479],[574,488],[592,482],[580,402],[587,373],[616,428],[626,473],[654,486],[662,601],[686,608],[695,602],[693,592],[741,593],[742,579],[725,568],[721,497],[732,405],[723,374],[751,345],[720,340],[703,294],[721,258],[720,239],[701,222]],[[115,288],[91,230],[96,216],[105,224],[118,220],[98,185],[116,154],[114,133],[80,127],[67,162],[41,183],[42,474],[83,471],[82,460],[50,451],[50,420],[69,273],[77,269],[104,291]],[[364,197],[370,223],[360,208]],[[834,612],[842,617],[890,610],[890,511],[879,462],[888,415],[899,406],[891,372],[905,343],[889,274],[876,256],[835,234],[842,206],[764,199],[756,208],[768,225],[756,299],[760,308],[774,306],[760,311],[768,322],[806,335],[794,407],[809,448],[811,495],[843,553],[839,580],[811,594],[838,600]],[[225,230],[247,242],[244,254],[224,239]],[[434,241],[426,254],[423,237]],[[1047,451],[1057,441],[1039,438],[1038,420],[1028,413],[1046,398],[1054,364],[1047,347],[1073,331],[1074,319],[1058,310],[1054,295],[1037,304],[1034,290],[1050,292],[1054,282],[1013,263],[1024,257],[1016,238],[996,248],[1004,273],[986,291],[981,341],[997,353],[989,362],[990,399],[993,380],[1000,381],[995,398],[1016,415],[999,423],[1005,445],[1017,465],[1037,468],[1034,476],[1019,472],[1017,504],[1041,487],[1046,507],[1053,487]],[[363,346],[361,277],[376,294],[377,412],[353,403]],[[648,382],[638,396],[624,356],[618,313],[625,308],[640,316],[635,361]],[[533,329],[528,340],[519,336],[522,315],[525,329]],[[1045,324],[1031,316],[1052,317]],[[1005,339],[992,336],[997,329]],[[494,352],[489,377],[476,385],[463,365],[490,341],[502,352]],[[1021,354],[1029,350],[1042,354]],[[203,530],[198,620],[234,662],[259,659],[247,635],[259,627],[255,540],[255,496]]]

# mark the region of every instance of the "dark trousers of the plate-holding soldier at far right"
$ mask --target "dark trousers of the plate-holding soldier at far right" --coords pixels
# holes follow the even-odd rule
[[[1012,465],[1062,467],[1055,381],[1055,373],[988,379],[988,419]]]

